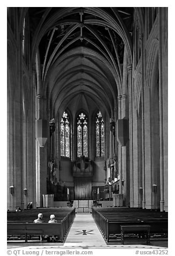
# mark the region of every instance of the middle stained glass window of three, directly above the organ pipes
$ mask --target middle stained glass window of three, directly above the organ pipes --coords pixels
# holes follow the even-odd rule
[[[88,117],[82,112],[77,117],[77,157],[88,157]]]

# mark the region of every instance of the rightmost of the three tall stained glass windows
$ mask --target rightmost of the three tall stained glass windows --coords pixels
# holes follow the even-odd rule
[[[104,120],[99,111],[96,116],[96,157],[105,156]]]

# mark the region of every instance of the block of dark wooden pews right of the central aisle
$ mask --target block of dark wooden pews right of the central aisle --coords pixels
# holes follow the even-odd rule
[[[92,217],[107,241],[119,237],[122,225],[149,225],[150,234],[168,232],[167,212],[138,208],[92,208]],[[134,229],[133,229],[134,230]]]

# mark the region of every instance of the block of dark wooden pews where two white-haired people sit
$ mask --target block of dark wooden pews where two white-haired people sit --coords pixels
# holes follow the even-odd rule
[[[33,223],[42,213],[42,223]],[[50,215],[54,214],[56,223],[48,223]],[[70,226],[75,218],[75,208],[39,208],[21,212],[8,212],[7,234],[8,239],[17,237],[27,242],[32,236],[55,236],[61,242],[65,240]]]

